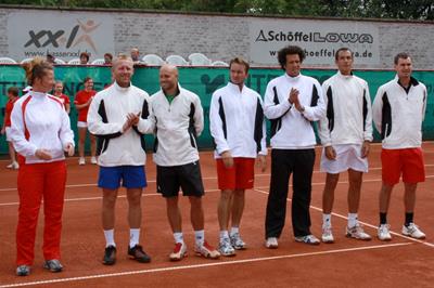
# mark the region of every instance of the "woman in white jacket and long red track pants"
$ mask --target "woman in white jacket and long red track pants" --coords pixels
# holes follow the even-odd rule
[[[53,67],[35,58],[25,67],[33,91],[16,101],[11,115],[11,139],[18,153],[18,225],[16,274],[30,273],[39,208],[43,199],[44,267],[60,272],[60,240],[66,183],[66,152],[74,155],[74,133],[63,104],[47,94],[54,84]]]

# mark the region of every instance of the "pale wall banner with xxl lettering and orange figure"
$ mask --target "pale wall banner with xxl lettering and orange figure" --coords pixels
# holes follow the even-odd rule
[[[8,17],[10,57],[15,60],[46,56],[78,58],[81,52],[91,60],[114,52],[113,19],[99,13],[71,11],[47,13],[13,12]]]

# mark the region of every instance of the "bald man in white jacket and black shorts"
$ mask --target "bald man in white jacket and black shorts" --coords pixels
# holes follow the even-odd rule
[[[204,187],[199,163],[196,138],[204,127],[199,96],[178,83],[178,69],[165,64],[159,69],[161,90],[152,95],[151,115],[155,121],[153,159],[157,166],[157,192],[166,199],[167,218],[175,238],[171,261],[187,256],[178,193],[188,196],[195,254],[217,259],[220,253],[205,241],[202,196]]]

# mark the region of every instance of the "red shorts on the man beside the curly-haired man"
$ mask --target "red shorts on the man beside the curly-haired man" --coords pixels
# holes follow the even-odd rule
[[[233,166],[226,168],[224,160],[217,159],[219,189],[251,189],[255,178],[254,158],[233,158]]]

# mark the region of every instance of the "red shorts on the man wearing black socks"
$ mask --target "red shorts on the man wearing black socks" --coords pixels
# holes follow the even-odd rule
[[[404,183],[419,183],[425,181],[425,166],[421,148],[382,149],[382,178],[388,185],[399,182],[403,173]]]

